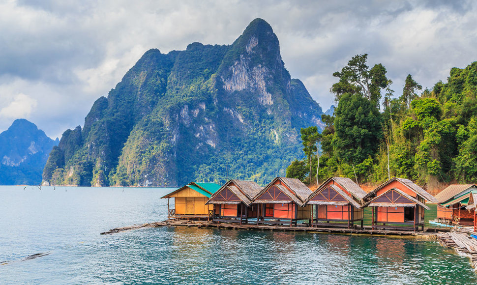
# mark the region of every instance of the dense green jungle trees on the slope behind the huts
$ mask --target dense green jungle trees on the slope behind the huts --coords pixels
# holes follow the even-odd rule
[[[322,116],[326,128],[316,141],[321,146],[318,171],[320,148],[310,153],[307,145],[307,159],[294,161],[287,176],[312,182],[310,177],[323,182],[345,176],[360,183],[397,176],[428,189],[440,182],[476,183],[477,62],[452,68],[447,83],[438,82],[420,94],[422,86],[408,75],[402,95],[393,98],[384,66],[369,69],[366,59],[366,54],[353,57],[333,74],[339,78],[331,87],[338,107],[334,117]],[[373,101],[381,92],[382,112]]]

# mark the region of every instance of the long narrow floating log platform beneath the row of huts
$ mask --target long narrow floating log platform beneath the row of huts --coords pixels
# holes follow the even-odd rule
[[[198,228],[227,228],[227,229],[244,229],[244,230],[280,230],[280,231],[302,231],[302,232],[328,232],[328,233],[344,233],[344,234],[376,234],[376,235],[407,235],[407,236],[435,236],[439,231],[448,231],[442,228],[426,228],[424,231],[414,232],[411,230],[388,230],[388,229],[371,229],[371,227],[364,228],[320,228],[320,227],[306,227],[306,225],[298,227],[290,226],[275,226],[275,225],[255,225],[245,224],[239,225],[234,223],[214,223],[210,221],[163,221],[156,223],[147,223],[142,225],[133,225],[129,227],[113,228],[101,234],[113,234],[122,231],[139,229],[139,228],[157,228],[157,227],[198,227]]]

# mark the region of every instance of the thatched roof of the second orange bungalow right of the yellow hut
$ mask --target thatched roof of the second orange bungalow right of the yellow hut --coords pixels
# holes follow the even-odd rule
[[[277,180],[280,180],[284,185],[275,184]],[[289,199],[280,199],[280,200],[260,200],[258,199],[265,192],[267,192],[271,187],[276,186],[283,194],[285,194]],[[308,196],[310,196],[311,190],[306,187],[303,182],[296,178],[286,178],[286,177],[276,177],[267,186],[265,186],[262,191],[260,191],[255,198],[252,200],[252,203],[275,203],[275,204],[286,204],[290,202],[295,202],[299,206],[303,206],[303,202]]]

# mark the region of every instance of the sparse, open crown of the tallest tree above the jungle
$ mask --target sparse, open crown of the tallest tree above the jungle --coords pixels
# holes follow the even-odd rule
[[[334,77],[339,78],[339,82],[333,84],[330,89],[336,96],[335,101],[339,101],[345,93],[360,93],[375,105],[379,104],[381,89],[388,84],[387,71],[381,63],[369,69],[367,58],[367,54],[354,56],[341,71],[333,73]]]

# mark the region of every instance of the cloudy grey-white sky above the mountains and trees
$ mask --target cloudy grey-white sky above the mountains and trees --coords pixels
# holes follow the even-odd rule
[[[0,132],[26,118],[55,139],[149,49],[230,45],[255,18],[280,41],[285,67],[326,111],[333,72],[367,53],[399,96],[477,60],[474,1],[0,1]]]

